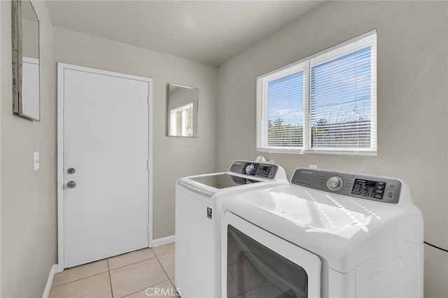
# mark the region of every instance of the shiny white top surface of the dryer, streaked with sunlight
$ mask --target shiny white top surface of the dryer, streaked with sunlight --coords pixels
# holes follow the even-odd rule
[[[342,273],[423,225],[421,215],[398,205],[295,185],[234,195],[223,211],[316,253]]]

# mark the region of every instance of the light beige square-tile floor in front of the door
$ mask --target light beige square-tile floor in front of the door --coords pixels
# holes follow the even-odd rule
[[[174,243],[144,248],[55,274],[55,297],[177,297]]]

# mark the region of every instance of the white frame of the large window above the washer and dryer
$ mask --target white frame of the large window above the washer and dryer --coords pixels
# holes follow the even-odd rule
[[[315,148],[311,147],[311,68],[314,65],[332,61],[370,46],[370,147],[352,148]],[[274,147],[268,144],[268,84],[288,75],[303,71],[303,147]],[[364,33],[344,43],[313,54],[292,64],[288,64],[265,75],[257,77],[257,123],[256,139],[257,151],[290,154],[334,154],[349,156],[377,156],[377,31],[376,29]]]

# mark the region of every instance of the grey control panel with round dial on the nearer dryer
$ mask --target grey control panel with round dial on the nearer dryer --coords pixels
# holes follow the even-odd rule
[[[291,184],[391,204],[398,203],[401,191],[396,179],[308,168],[295,170]]]

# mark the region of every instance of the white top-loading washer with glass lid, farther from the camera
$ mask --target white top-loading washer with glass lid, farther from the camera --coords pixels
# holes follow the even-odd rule
[[[181,297],[221,297],[221,206],[235,193],[288,184],[272,163],[234,161],[228,172],[176,182],[176,288]]]

